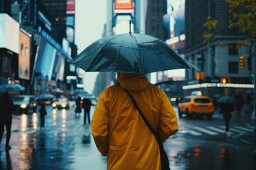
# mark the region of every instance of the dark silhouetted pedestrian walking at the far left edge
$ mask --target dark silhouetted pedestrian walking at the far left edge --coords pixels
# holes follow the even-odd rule
[[[11,138],[12,111],[14,102],[9,98],[8,93],[1,94],[0,98],[0,144],[4,134],[4,126],[6,127],[6,145],[5,149],[11,149],[9,145]]]

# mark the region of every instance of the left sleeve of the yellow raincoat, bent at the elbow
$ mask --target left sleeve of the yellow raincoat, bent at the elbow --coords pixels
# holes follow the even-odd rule
[[[92,137],[102,156],[107,156],[108,153],[108,115],[108,108],[105,105],[103,98],[100,97],[92,116],[91,128]]]

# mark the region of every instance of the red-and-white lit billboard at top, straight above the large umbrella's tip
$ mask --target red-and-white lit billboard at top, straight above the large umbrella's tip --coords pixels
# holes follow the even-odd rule
[[[117,13],[134,13],[132,0],[115,0],[114,14]]]

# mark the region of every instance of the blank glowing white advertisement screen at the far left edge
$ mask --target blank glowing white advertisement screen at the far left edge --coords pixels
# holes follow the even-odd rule
[[[19,23],[6,13],[0,13],[0,48],[18,54]]]

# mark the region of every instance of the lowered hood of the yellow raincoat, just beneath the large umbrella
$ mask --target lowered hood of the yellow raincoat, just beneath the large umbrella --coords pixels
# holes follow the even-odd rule
[[[149,85],[144,74],[117,73],[117,83],[128,91],[142,91]]]

